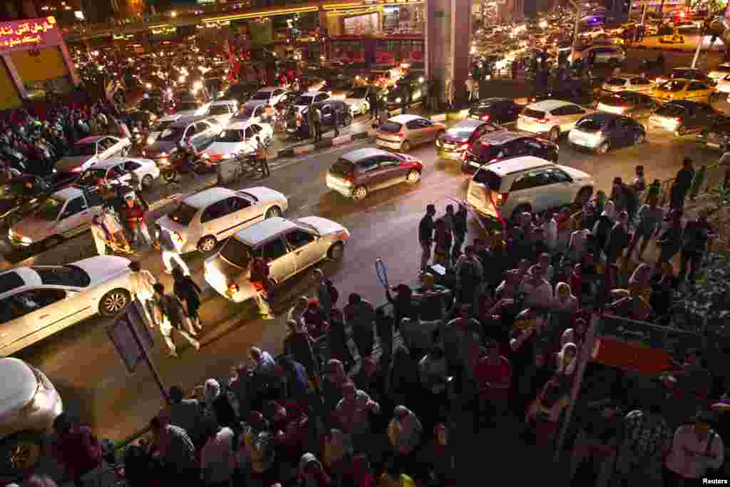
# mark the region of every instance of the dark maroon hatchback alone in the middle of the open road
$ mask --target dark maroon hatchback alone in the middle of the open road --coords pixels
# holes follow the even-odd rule
[[[421,172],[423,163],[412,156],[368,147],[337,159],[327,172],[327,188],[361,200],[391,185],[418,183]]]

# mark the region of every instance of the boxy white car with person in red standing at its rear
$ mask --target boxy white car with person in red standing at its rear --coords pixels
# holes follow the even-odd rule
[[[269,279],[277,285],[325,258],[342,258],[349,238],[344,226],[326,218],[269,218],[238,231],[205,259],[205,280],[221,296],[244,302],[256,293],[249,280],[252,258],[268,261]]]

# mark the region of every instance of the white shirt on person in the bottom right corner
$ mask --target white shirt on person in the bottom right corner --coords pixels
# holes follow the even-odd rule
[[[710,453],[714,459],[704,456],[707,451],[707,442],[714,436]],[[687,450],[687,451],[685,451]],[[719,434],[712,432],[704,440],[699,440],[694,432],[694,424],[685,424],[677,428],[672,441],[672,450],[666,456],[666,468],[684,478],[700,478],[707,467],[720,468],[725,461],[725,445]]]

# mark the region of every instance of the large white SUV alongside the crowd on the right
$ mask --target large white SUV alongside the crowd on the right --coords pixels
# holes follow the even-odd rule
[[[490,164],[469,180],[466,202],[487,218],[504,221],[522,212],[542,212],[587,202],[593,177],[534,156]]]

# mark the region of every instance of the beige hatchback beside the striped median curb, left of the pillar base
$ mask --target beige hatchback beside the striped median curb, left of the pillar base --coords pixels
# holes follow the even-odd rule
[[[396,115],[377,128],[375,145],[408,152],[415,145],[437,139],[444,131],[443,123],[419,115]]]

